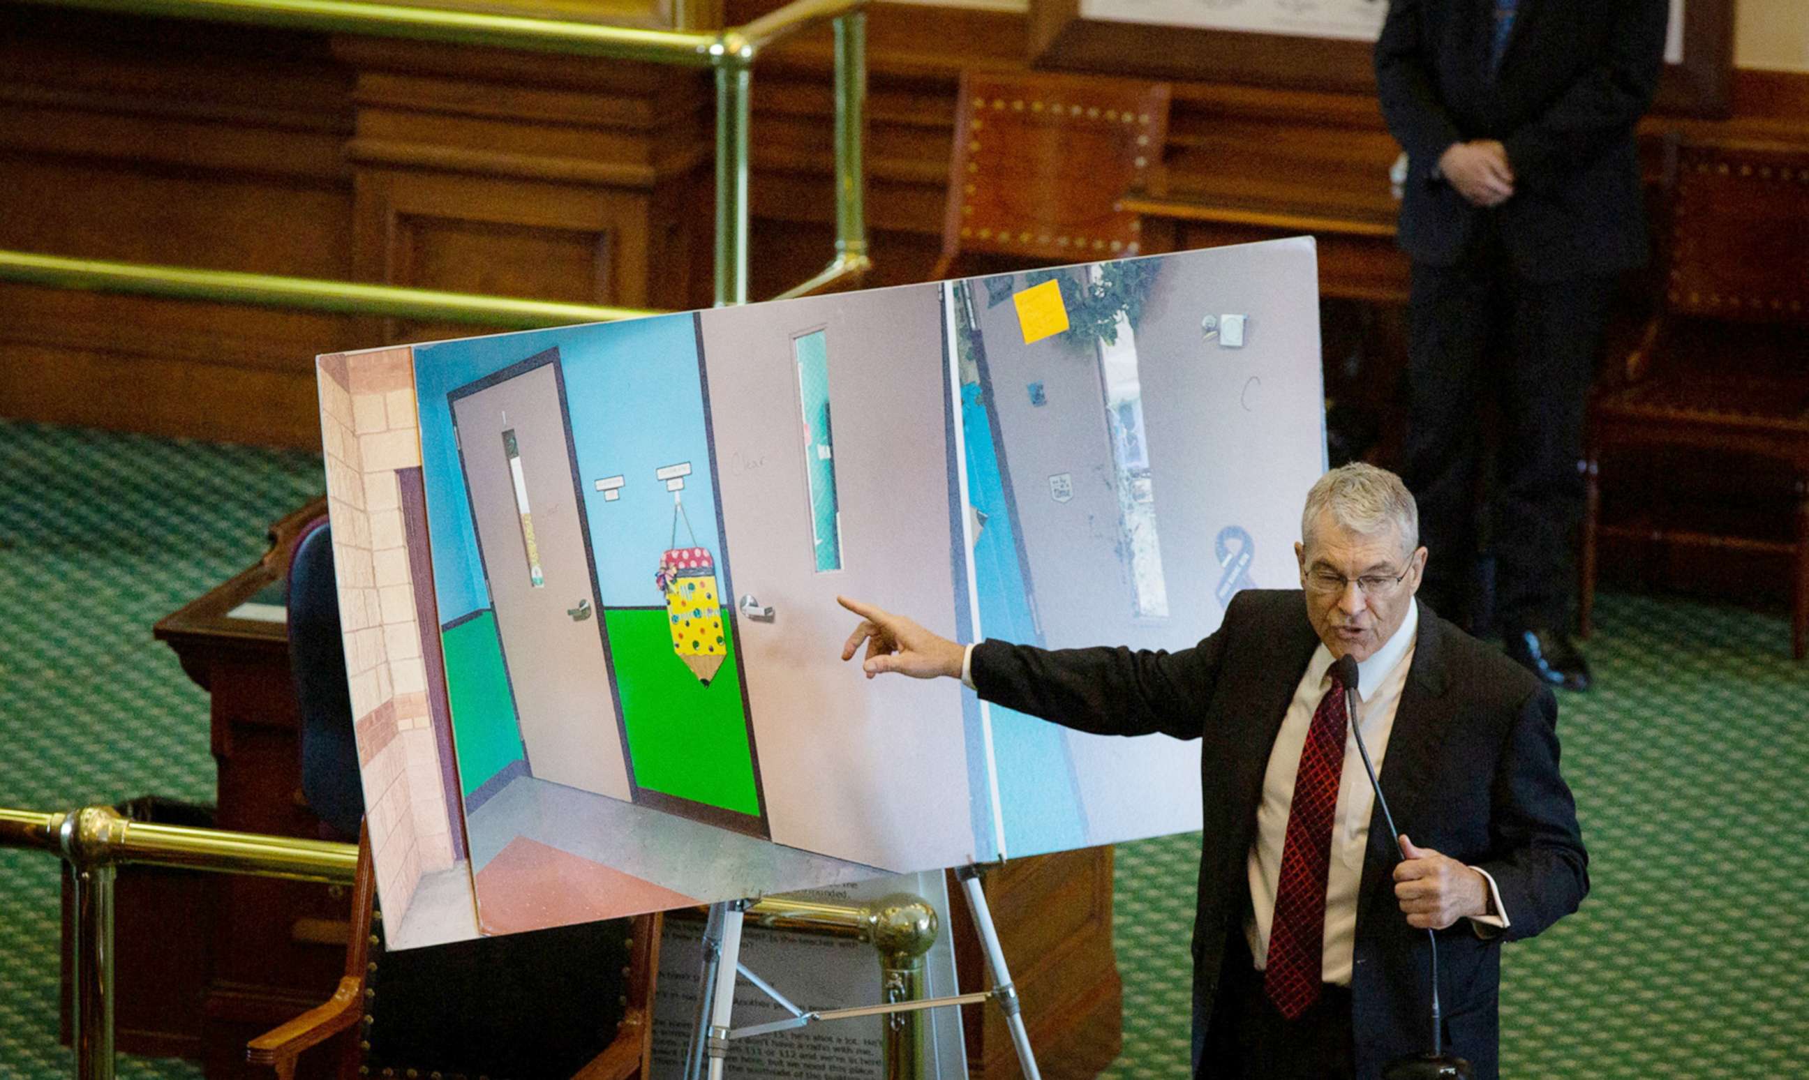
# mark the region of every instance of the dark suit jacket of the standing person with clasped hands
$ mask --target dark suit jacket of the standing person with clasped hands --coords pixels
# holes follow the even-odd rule
[[[1529,279],[1644,264],[1634,125],[1659,85],[1668,11],[1666,0],[1520,0],[1491,74],[1494,0],[1393,0],[1375,78],[1407,150],[1402,250],[1451,266],[1494,215]],[[1500,139],[1514,166],[1514,195],[1494,210],[1435,177],[1440,154],[1469,139]]]

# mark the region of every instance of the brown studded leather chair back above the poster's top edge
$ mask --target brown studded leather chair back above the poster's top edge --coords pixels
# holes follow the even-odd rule
[[[1169,87],[1044,72],[961,72],[942,257],[1015,266],[1120,259],[1143,223],[1123,194],[1161,163]]]

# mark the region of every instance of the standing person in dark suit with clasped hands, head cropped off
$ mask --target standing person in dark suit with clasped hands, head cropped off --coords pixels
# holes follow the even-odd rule
[[[1570,640],[1583,411],[1621,271],[1646,261],[1634,125],[1652,103],[1666,0],[1393,0],[1375,45],[1407,152],[1413,259],[1402,474],[1436,552],[1427,597],[1463,613],[1474,572],[1476,412],[1500,402],[1492,494],[1507,651],[1586,689]],[[1507,355],[1485,369],[1489,346]]]

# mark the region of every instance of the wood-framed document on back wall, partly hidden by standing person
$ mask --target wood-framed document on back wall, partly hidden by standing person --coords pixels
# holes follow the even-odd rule
[[[1733,0],[1670,0],[1655,109],[1726,116]],[[1029,0],[1029,56],[1143,78],[1373,92],[1388,0]]]

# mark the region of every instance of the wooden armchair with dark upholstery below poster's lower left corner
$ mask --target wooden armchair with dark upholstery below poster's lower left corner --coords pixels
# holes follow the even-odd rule
[[[315,1006],[288,1024],[253,1038],[246,1047],[246,1060],[253,1066],[270,1066],[275,1069],[279,1080],[295,1078],[297,1058],[302,1051],[320,1046],[335,1035],[360,1026],[360,1038],[356,1042],[346,1040],[342,1044],[338,1069],[335,1075],[344,1080],[355,1080],[360,1076],[360,1069],[367,1067],[365,1055],[371,1051],[371,1029],[384,1013],[378,1004],[384,995],[378,993],[378,988],[374,986],[385,966],[380,926],[382,912],[373,905],[376,895],[374,881],[376,876],[371,870],[371,836],[369,830],[364,829],[358,836],[358,877],[353,886],[353,919],[351,939],[346,943],[346,973],[340,977],[338,988],[333,991],[333,997],[320,1006]],[[631,1080],[648,1076],[653,1053],[653,984],[655,971],[658,970],[660,915],[639,915],[630,923],[633,928],[628,941],[628,964],[622,968],[622,975],[626,977],[626,993],[619,1002],[620,1020],[615,1029],[615,1038],[602,1049],[602,1053],[595,1055],[588,1064],[573,1073],[573,1080]],[[485,950],[494,953],[494,948],[487,950],[485,946],[508,941],[512,939],[483,939],[467,944],[476,946],[469,952]],[[507,962],[505,957],[492,959]],[[608,961],[599,957],[599,962]],[[599,1015],[606,1011],[606,1006],[610,1004],[611,1002],[601,1002],[602,1008],[597,1009]],[[456,1067],[458,1066],[454,1064],[454,1071],[449,1071],[447,1062],[423,1060],[421,1067],[411,1069],[391,1064],[369,1069],[369,1075],[407,1076],[418,1073],[420,1076],[452,1076],[458,1075]],[[478,1073],[479,1069],[476,1067],[470,1071],[470,1075]],[[497,1080],[501,1080],[501,1076],[517,1076],[516,1073],[497,1071],[487,1071],[487,1075],[497,1076]]]

